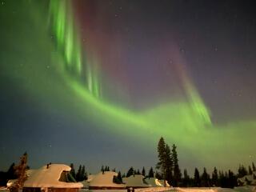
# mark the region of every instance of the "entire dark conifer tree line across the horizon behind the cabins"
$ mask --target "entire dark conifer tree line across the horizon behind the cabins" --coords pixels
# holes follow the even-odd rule
[[[27,158],[27,154],[23,154],[22,158]],[[17,166],[12,163],[7,171],[0,171],[0,186],[6,186],[8,180],[18,178],[19,173],[21,173],[21,171],[18,170],[18,167],[24,166],[22,166],[21,162]],[[70,175],[74,178],[75,181],[82,182],[88,178],[86,166],[78,166],[77,171],[74,169],[73,163],[70,164],[70,167]],[[27,170],[29,168],[29,166],[26,166],[25,169]],[[102,174],[104,174],[105,171],[110,171],[110,167],[102,166],[101,171]],[[111,171],[116,172],[115,168]],[[177,146],[172,145],[172,149],[170,150],[170,146],[166,144],[164,138],[160,138],[158,142],[158,163],[155,166],[155,171],[151,166],[150,170],[146,174],[146,169],[144,166],[142,167],[142,171],[140,171],[139,169],[134,169],[134,167],[131,166],[126,173],[122,174],[121,171],[118,171],[118,176],[114,178],[114,182],[122,183],[122,178],[130,177],[131,175],[135,174],[142,174],[146,178],[164,179],[171,186],[220,186],[233,188],[234,186],[238,186],[238,178],[242,178],[247,174],[253,174],[254,171],[256,171],[254,162],[252,162],[251,166],[248,166],[248,169],[246,169],[246,166],[240,164],[237,174],[234,174],[234,172],[231,170],[218,170],[216,167],[214,167],[214,170],[211,174],[209,174],[204,167],[202,174],[200,174],[198,168],[196,167],[194,169],[194,175],[190,177],[186,169],[183,170],[182,174],[182,171],[179,168]],[[247,185],[250,185],[250,181],[246,182]]]

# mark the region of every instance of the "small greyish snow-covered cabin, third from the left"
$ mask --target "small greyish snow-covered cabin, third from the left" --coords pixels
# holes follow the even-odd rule
[[[130,175],[128,178],[122,178],[122,182],[126,183],[126,187],[133,188],[145,188],[150,187],[150,184],[146,182],[145,177],[142,174]]]

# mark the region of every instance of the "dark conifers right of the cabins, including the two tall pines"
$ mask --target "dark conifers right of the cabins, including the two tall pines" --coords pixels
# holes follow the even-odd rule
[[[183,186],[183,187],[210,187],[220,186],[226,188],[234,188],[238,186],[238,178],[242,178],[247,174],[253,174],[256,171],[254,162],[251,166],[248,166],[248,170],[245,166],[239,165],[238,174],[234,174],[233,171],[217,170],[214,167],[212,174],[208,174],[206,168],[203,168],[202,174],[199,173],[198,168],[194,169],[194,177],[190,177],[187,174],[187,170],[184,169],[183,175],[178,166],[178,153],[177,146],[173,145],[170,151],[170,146],[166,144],[164,138],[160,138],[158,142],[158,164],[155,177],[166,180],[171,186]],[[250,181],[246,183],[250,185]]]

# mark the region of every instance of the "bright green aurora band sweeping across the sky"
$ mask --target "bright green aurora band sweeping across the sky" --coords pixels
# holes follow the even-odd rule
[[[10,15],[2,28],[6,29],[2,31],[6,51],[1,53],[1,70],[12,78],[14,89],[30,95],[30,102],[42,110],[54,106],[69,110],[70,118],[90,117],[113,134],[128,135],[126,139],[134,140],[143,150],[148,150],[149,139],[156,142],[162,135],[168,142],[178,143],[183,151],[198,150],[198,162],[205,165],[214,162],[234,166],[223,161],[223,157],[235,159],[237,164],[245,159],[241,154],[254,153],[256,122],[215,125],[210,109],[186,73],[181,75],[186,95],[181,95],[179,101],[142,111],[108,102],[102,97],[100,59],[83,52],[71,3],[20,3],[20,21]],[[2,11],[2,15],[7,11]],[[26,23],[33,23],[34,27],[28,29]],[[181,152],[181,158],[186,158],[186,154]]]

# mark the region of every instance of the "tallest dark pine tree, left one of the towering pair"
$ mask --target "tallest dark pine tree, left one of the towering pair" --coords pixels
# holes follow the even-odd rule
[[[158,142],[158,164],[156,168],[161,170],[162,178],[164,179],[164,184],[166,186],[166,142],[161,137]]]

